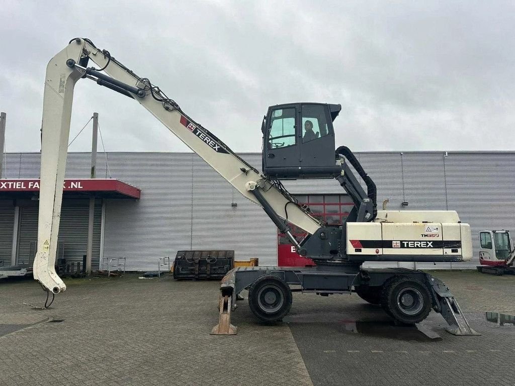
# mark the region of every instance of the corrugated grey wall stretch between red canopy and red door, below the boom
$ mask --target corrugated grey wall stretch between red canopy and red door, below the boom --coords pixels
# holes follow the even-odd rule
[[[261,162],[252,156],[251,164]],[[271,220],[196,154],[115,153],[109,168],[142,195],[138,201],[107,200],[104,261],[126,257],[128,269],[149,270],[158,268],[160,258],[173,262],[179,250],[234,249],[237,260],[277,264]]]

